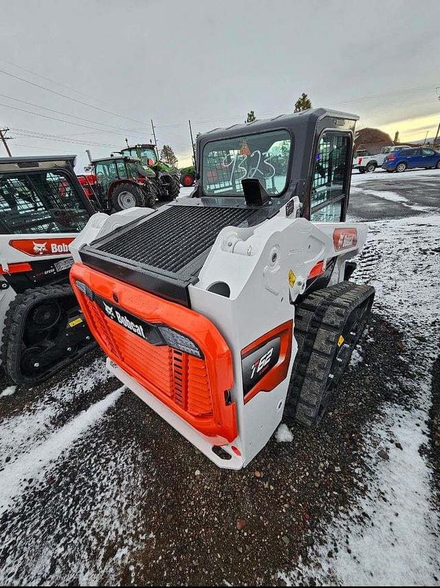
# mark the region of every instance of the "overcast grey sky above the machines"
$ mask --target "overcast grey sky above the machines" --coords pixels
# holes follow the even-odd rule
[[[0,14],[13,155],[83,166],[87,148],[149,140],[153,118],[159,147],[189,165],[188,118],[195,133],[265,118],[301,92],[401,140],[440,120],[440,0],[0,0]]]

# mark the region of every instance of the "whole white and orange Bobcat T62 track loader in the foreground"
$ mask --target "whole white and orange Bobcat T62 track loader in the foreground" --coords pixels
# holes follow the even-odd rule
[[[223,468],[281,419],[314,426],[366,324],[348,282],[357,116],[326,109],[197,138],[192,198],[92,218],[70,278],[107,366]]]

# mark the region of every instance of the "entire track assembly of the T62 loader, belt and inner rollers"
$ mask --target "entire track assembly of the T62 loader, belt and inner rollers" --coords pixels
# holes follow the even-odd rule
[[[298,352],[287,392],[285,418],[316,426],[369,318],[374,288],[342,282],[298,304]]]

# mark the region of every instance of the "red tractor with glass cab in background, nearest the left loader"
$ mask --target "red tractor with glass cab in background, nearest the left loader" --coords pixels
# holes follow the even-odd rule
[[[131,207],[155,208],[155,173],[140,160],[111,156],[95,159],[91,165],[93,173],[87,176],[87,185],[81,183],[98,199],[100,209],[118,212]]]

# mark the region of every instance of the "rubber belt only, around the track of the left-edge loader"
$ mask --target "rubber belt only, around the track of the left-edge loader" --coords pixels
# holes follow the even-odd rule
[[[39,381],[51,377],[54,372],[70,364],[80,355],[90,350],[96,343],[92,342],[82,348],[78,353],[69,355],[68,358],[63,359],[57,366],[54,366],[41,378],[32,380],[28,378],[21,378],[20,357],[22,351],[23,339],[23,322],[28,317],[28,311],[36,302],[44,300],[45,298],[65,297],[72,295],[72,286],[70,284],[52,284],[49,286],[39,286],[37,288],[28,288],[12,300],[8,311],[5,313],[5,323],[3,328],[3,339],[0,349],[1,360],[3,368],[12,377],[17,384],[36,384]]]

